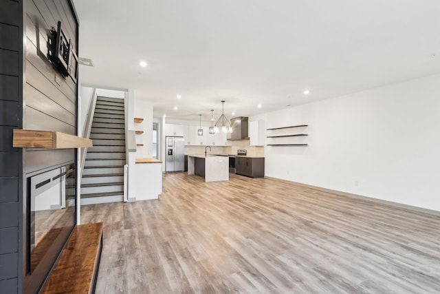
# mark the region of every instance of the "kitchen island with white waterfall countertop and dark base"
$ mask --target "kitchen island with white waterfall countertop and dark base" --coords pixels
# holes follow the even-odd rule
[[[221,155],[188,154],[188,175],[201,176],[205,182],[229,180],[229,158]]]

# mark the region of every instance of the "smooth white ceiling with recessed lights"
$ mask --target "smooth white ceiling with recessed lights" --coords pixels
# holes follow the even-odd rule
[[[80,65],[81,83],[133,89],[154,116],[208,121],[221,100],[229,118],[252,116],[440,72],[438,0],[74,5],[79,56],[94,62]]]

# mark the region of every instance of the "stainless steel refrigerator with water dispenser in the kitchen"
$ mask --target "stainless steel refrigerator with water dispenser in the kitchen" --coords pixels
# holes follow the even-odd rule
[[[165,171],[184,171],[184,137],[165,137]]]

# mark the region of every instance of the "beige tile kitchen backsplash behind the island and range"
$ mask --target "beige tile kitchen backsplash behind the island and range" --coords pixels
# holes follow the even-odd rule
[[[263,146],[250,146],[249,140],[231,140],[231,146],[211,146],[208,154],[236,154],[237,149],[248,150],[248,156],[264,156]],[[185,146],[185,154],[204,154],[205,146]]]

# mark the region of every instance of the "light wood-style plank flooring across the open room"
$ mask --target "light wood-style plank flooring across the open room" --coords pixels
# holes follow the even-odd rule
[[[96,293],[440,293],[439,216],[183,173],[159,200],[81,209],[104,222]]]

